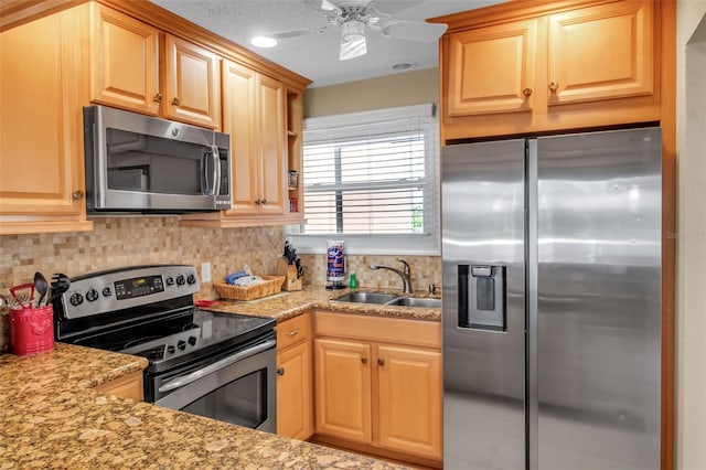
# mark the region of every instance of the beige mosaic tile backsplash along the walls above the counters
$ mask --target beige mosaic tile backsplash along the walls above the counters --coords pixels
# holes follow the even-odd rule
[[[193,228],[180,227],[179,217],[96,217],[93,232],[0,236],[0,292],[30,282],[35,271],[69,277],[97,270],[149,264],[211,263],[213,279],[240,270],[247,264],[255,274],[275,274],[282,253],[284,227]],[[411,288],[427,290],[441,282],[441,259],[435,256],[346,255],[346,277],[356,273],[361,288],[398,289],[402,281],[388,270],[398,258],[411,267]],[[325,255],[301,255],[304,284],[325,284]],[[217,298],[211,282],[201,287],[202,298]]]

